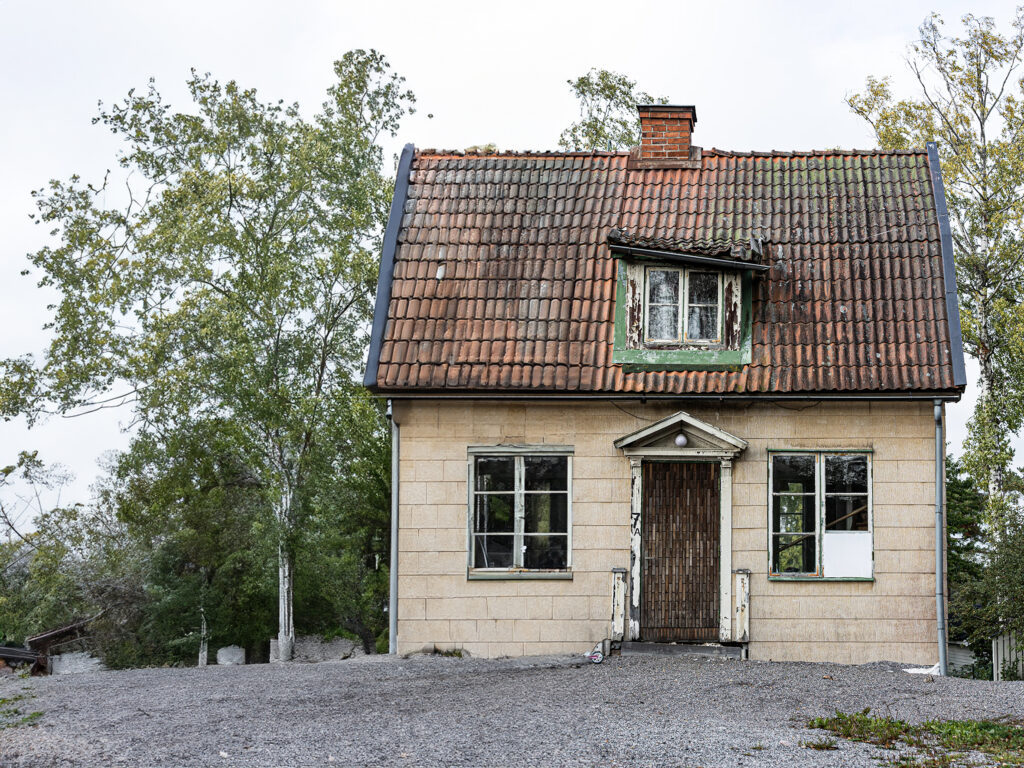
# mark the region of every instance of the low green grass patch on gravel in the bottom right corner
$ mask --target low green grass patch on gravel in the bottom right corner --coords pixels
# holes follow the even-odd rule
[[[910,746],[915,754],[888,761],[898,768],[943,768],[973,763],[968,753],[981,753],[997,765],[1024,766],[1024,728],[1019,723],[996,720],[929,720],[911,725],[903,720],[862,712],[837,712],[834,717],[814,718],[807,723],[850,741],[896,750]]]

